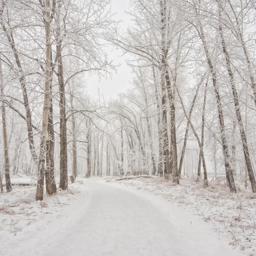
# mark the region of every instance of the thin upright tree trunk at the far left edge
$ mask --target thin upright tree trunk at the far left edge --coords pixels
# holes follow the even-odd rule
[[[2,71],[1,54],[0,54],[0,93],[1,93],[1,97],[3,98],[3,71]],[[5,105],[3,102],[2,102],[2,125],[3,125],[4,176],[6,180],[6,192],[11,192],[12,183],[11,183],[11,177],[10,177],[8,138],[7,138],[7,128],[6,128],[6,112],[5,112]]]

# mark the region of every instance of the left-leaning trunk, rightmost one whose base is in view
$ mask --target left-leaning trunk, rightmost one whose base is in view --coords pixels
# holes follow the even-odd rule
[[[237,118],[237,122],[239,125],[240,136],[241,136],[241,141],[242,141],[243,150],[244,150],[244,158],[245,158],[245,162],[246,162],[246,166],[247,166],[247,172],[249,175],[253,193],[255,193],[256,192],[256,180],[255,180],[255,176],[254,176],[254,172],[253,172],[253,166],[252,166],[251,160],[250,160],[250,153],[249,153],[249,148],[247,145],[247,139],[246,139],[246,135],[245,135],[245,131],[244,131],[244,125],[243,125],[242,118],[241,118],[239,99],[238,99],[238,95],[237,95],[237,91],[236,91],[236,85],[235,85],[235,81],[234,81],[233,71],[231,68],[230,56],[227,51],[227,46],[226,46],[226,42],[224,40],[224,35],[223,35],[221,26],[219,27],[219,30],[220,30],[220,34],[221,34],[222,49],[225,54],[225,59],[226,59],[226,64],[227,64],[227,71],[228,71],[228,74],[230,77],[230,84],[231,84],[231,89],[232,89],[233,99],[234,99],[234,104],[235,104],[235,110],[236,110],[236,118]]]

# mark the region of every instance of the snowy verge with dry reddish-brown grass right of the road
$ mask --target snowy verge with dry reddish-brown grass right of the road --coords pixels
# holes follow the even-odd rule
[[[180,180],[180,186],[159,177],[111,182],[160,195],[172,204],[200,215],[215,232],[227,236],[231,246],[256,256],[256,195],[242,191],[239,184],[239,192],[233,194],[223,180],[210,182],[207,188],[191,179]]]

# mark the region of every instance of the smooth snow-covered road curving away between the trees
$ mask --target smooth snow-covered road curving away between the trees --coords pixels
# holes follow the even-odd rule
[[[198,217],[171,209],[167,201],[96,179],[85,185],[89,192],[79,195],[69,211],[47,227],[38,226],[22,241],[17,240],[16,246],[9,244],[16,248],[3,255],[241,255]]]

